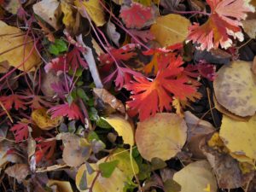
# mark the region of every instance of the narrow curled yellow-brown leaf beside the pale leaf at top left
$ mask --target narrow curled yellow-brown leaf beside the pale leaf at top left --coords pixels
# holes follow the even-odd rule
[[[67,28],[71,28],[72,26],[74,26],[74,23],[76,22],[76,20],[73,17],[73,10],[71,5],[69,5],[67,2],[65,1],[61,1],[61,11],[63,12],[63,23]]]

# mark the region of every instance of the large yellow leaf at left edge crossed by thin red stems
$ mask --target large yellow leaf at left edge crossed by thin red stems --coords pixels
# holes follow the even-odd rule
[[[15,26],[8,26],[0,20],[0,62],[9,61],[12,67],[21,71],[34,71],[41,60],[33,48],[32,38]],[[25,45],[23,45],[25,44]],[[25,54],[24,54],[25,52]],[[22,64],[24,61],[24,64]]]

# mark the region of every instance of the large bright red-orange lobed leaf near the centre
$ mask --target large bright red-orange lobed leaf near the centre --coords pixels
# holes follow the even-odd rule
[[[147,119],[150,115],[172,108],[172,96],[187,100],[196,92],[196,88],[187,84],[188,78],[183,73],[182,57],[172,55],[170,63],[159,66],[156,78],[148,80],[135,77],[136,81],[125,84],[131,90],[131,101],[127,102],[131,110],[139,113],[139,119]]]

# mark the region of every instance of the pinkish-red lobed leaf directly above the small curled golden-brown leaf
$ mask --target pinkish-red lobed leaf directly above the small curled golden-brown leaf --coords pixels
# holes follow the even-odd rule
[[[82,122],[84,122],[84,115],[75,102],[72,102],[71,104],[65,102],[64,104],[49,108],[48,112],[51,113],[52,118],[66,116],[70,120],[80,119]]]

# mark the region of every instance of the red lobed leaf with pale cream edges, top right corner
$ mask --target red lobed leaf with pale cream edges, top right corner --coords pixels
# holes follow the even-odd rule
[[[229,36],[243,40],[241,20],[245,20],[247,12],[253,12],[253,6],[244,0],[207,0],[211,14],[205,24],[194,23],[189,27],[189,41],[200,44],[198,49],[224,49],[231,46]]]

